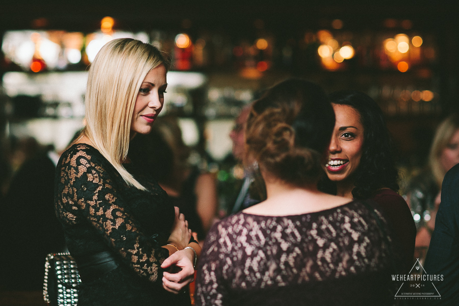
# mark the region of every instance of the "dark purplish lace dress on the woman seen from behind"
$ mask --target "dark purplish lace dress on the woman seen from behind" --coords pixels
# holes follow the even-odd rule
[[[207,236],[195,303],[390,305],[390,241],[358,201],[294,216],[238,213]]]

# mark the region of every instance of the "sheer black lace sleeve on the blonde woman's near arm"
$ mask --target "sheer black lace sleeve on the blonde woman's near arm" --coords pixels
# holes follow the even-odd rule
[[[89,222],[138,275],[161,280],[160,265],[168,251],[138,231],[113,187],[113,175],[96,159],[81,149],[62,159],[56,201],[60,219],[73,224],[86,219],[83,222]]]

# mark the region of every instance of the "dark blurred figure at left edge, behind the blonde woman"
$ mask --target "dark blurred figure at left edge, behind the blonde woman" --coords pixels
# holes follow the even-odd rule
[[[59,154],[35,139],[20,143],[29,150],[16,157],[20,166],[0,207],[0,275],[7,290],[38,291],[43,289],[46,255],[65,250],[64,232],[54,211]]]

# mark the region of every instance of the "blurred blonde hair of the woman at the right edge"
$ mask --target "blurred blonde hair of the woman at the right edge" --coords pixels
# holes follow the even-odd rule
[[[433,137],[429,153],[429,167],[440,189],[442,187],[443,178],[446,174],[446,171],[443,169],[440,162],[440,156],[451,141],[454,132],[458,129],[459,116],[457,114],[452,114],[440,123],[437,127],[437,131],[435,132],[435,136]]]

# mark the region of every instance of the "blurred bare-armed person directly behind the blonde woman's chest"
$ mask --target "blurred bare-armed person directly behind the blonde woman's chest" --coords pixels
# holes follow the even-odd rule
[[[214,174],[190,165],[190,151],[177,118],[171,116],[158,118],[152,132],[134,138],[130,146],[133,162],[144,163],[203,241],[216,219],[217,185]]]

